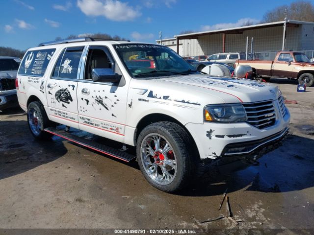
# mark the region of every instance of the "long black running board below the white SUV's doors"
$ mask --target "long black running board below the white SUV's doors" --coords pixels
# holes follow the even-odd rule
[[[69,132],[66,132],[65,130],[59,130],[59,129],[56,129],[53,127],[49,127],[49,128],[44,129],[44,131],[49,132],[52,135],[66,139],[68,141],[75,142],[75,143],[82,145],[84,147],[93,149],[97,152],[104,153],[106,155],[109,155],[110,157],[120,159],[124,162],[129,163],[131,160],[136,158],[136,156],[131,155],[129,153],[126,153],[126,152],[120,151],[118,149],[114,149],[114,148],[111,148],[109,146],[99,144],[99,143],[96,143],[94,141],[90,141],[90,140],[87,140],[85,138],[70,134]]]

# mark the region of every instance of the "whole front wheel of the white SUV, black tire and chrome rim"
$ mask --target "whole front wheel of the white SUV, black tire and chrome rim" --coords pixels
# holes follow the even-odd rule
[[[193,174],[189,136],[173,122],[157,122],[145,127],[138,136],[136,153],[146,180],[166,192],[184,188]]]

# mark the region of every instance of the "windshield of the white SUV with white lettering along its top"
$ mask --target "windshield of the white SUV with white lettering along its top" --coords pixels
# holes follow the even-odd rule
[[[133,77],[156,77],[195,72],[172,49],[150,44],[114,45]]]

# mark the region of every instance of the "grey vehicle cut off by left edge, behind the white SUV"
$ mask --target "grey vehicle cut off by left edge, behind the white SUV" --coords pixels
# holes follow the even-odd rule
[[[0,56],[0,110],[19,106],[15,78],[20,63],[17,57]]]

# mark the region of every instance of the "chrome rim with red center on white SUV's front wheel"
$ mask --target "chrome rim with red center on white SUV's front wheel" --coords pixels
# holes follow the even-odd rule
[[[146,174],[159,185],[170,184],[177,174],[177,158],[165,137],[157,133],[145,136],[141,160]]]

